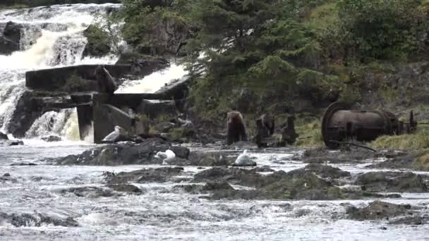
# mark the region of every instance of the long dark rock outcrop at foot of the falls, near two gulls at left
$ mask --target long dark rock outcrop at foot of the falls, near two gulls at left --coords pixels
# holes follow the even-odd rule
[[[161,164],[162,160],[154,156],[157,152],[171,149],[170,144],[161,139],[149,139],[140,144],[116,143],[83,152],[80,155],[71,155],[56,159],[60,165],[93,165],[114,166],[130,164]],[[186,158],[188,149],[175,147],[175,154],[179,158]],[[177,153],[176,153],[177,152]],[[182,156],[183,155],[183,156]]]

